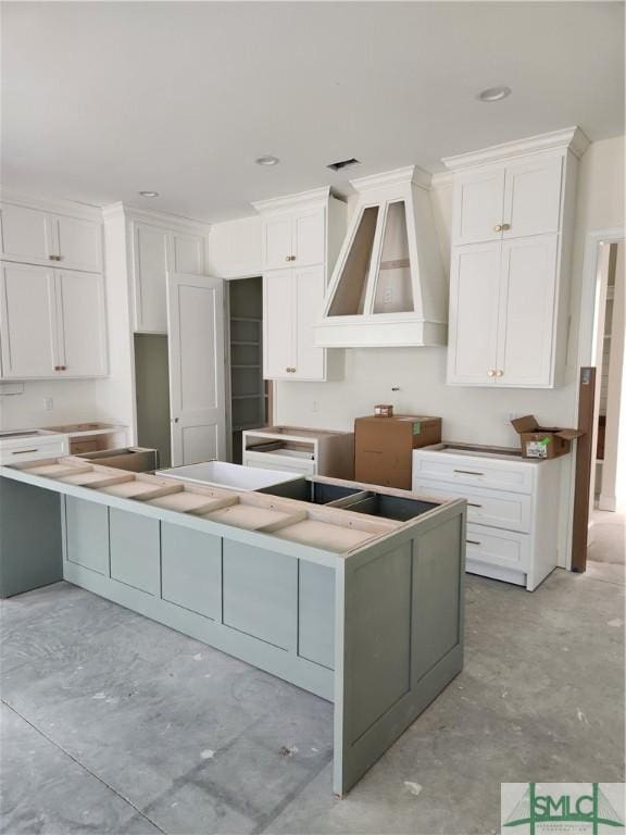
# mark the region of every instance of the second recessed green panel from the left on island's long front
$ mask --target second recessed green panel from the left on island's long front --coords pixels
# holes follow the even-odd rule
[[[161,543],[158,519],[111,508],[111,576],[159,597]]]

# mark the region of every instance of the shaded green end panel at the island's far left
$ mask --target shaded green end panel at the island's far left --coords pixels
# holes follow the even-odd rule
[[[63,579],[61,497],[0,478],[0,598]]]

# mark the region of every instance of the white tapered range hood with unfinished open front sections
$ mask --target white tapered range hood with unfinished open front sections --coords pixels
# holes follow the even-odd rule
[[[359,202],[315,325],[315,344],[446,345],[448,283],[430,205],[430,174],[411,165],[351,185]]]

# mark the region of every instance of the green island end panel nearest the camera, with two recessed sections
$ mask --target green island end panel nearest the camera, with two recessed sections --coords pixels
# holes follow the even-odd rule
[[[337,569],[335,765],[343,796],[463,666],[465,507]]]

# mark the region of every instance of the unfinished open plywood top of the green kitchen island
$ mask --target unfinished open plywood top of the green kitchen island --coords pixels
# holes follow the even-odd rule
[[[80,489],[87,499],[89,495],[102,494],[342,556],[416,521],[415,518],[398,521],[352,511],[349,507],[328,507],[263,493],[238,493],[222,487],[177,482],[172,477],[162,478],[148,473],[102,466],[72,456],[2,468],[3,475],[9,475],[8,471],[23,476],[36,476],[36,479],[28,481],[41,481],[41,486],[49,489],[54,489],[52,485],[55,485],[61,493],[70,491],[63,489],[63,485]],[[333,479],[321,481],[329,483]],[[421,497],[404,490],[339,479],[336,483],[355,488],[354,495],[350,497],[352,503],[358,503],[373,493],[421,500]],[[75,494],[72,491],[72,495]],[[346,502],[342,500],[342,503]],[[433,501],[431,508],[421,510],[420,518],[446,503],[441,500]]]

